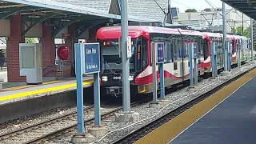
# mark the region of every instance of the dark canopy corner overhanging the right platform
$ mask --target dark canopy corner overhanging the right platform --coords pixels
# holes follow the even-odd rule
[[[222,0],[222,2],[256,20],[256,0]]]

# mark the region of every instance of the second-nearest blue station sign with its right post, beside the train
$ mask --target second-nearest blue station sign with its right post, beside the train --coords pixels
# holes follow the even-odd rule
[[[161,90],[161,99],[165,99],[165,82],[164,82],[164,69],[163,69],[163,63],[165,62],[165,52],[164,52],[164,43],[163,42],[157,42],[155,43],[157,47],[157,63],[158,63],[158,70],[160,73],[160,90]]]

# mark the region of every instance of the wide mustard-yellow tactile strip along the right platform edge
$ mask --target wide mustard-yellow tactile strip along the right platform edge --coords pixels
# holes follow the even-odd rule
[[[236,81],[225,86],[222,90],[219,90],[215,94],[212,94],[209,98],[206,98],[197,105],[191,107],[189,110],[184,111],[176,118],[166,122],[166,124],[158,127],[158,129],[147,134],[141,138],[135,144],[166,144],[173,140],[178,134],[181,134],[183,130],[196,122],[199,118],[202,118],[209,110],[217,106],[225,98],[228,98],[235,90],[237,90],[244,83],[250,81],[256,75],[256,70],[250,71],[248,74],[238,78]]]

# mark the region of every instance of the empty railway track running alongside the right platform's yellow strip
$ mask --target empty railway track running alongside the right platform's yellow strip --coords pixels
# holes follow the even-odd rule
[[[254,70],[254,68],[255,67],[251,68],[250,70]],[[126,134],[122,138],[119,138],[114,143],[134,143],[138,141],[140,138],[143,138],[144,136],[146,136],[146,134],[149,134],[151,131],[155,130],[159,126],[162,126],[166,122],[169,122],[171,119],[177,117],[179,114],[182,114],[184,111],[190,109],[192,106],[196,105],[198,102],[202,102],[202,100],[210,97],[210,95],[214,94],[218,90],[221,90],[222,87],[229,85],[231,82],[234,82],[238,78],[241,78],[242,75],[248,73],[250,70],[246,70],[242,74],[239,74],[238,76],[231,78],[230,80],[215,87],[213,90],[207,91],[205,94],[202,94],[197,98],[194,98],[190,102],[186,102],[182,106],[178,106],[175,110],[170,111],[170,113],[164,114],[161,117],[154,119],[153,122],[146,123],[144,126],[138,128],[137,130],[133,130],[129,134]]]

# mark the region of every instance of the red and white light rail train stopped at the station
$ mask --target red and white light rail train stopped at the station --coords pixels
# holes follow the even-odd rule
[[[215,42],[217,50],[218,70],[224,66],[224,50],[222,34],[202,33],[195,30],[171,29],[157,26],[128,26],[128,34],[132,38],[132,57],[130,58],[130,90],[132,93],[149,94],[153,91],[151,42],[165,43],[164,77],[165,86],[189,80],[189,43],[198,47],[198,76],[210,73],[210,45]],[[97,39],[101,49],[101,86],[106,94],[122,94],[122,58],[119,58],[118,38],[121,26],[102,27],[97,31]],[[232,65],[237,64],[237,47],[248,51],[247,38],[227,35],[230,45]],[[247,53],[241,52],[241,61],[246,62]],[[158,70],[158,66],[157,66]],[[158,74],[158,73],[157,73]],[[158,75],[159,78],[159,75]]]

